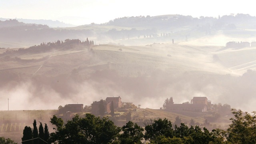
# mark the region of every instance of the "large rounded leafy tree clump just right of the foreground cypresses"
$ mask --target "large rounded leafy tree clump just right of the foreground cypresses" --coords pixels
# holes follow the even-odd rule
[[[76,115],[66,124],[54,115],[51,123],[56,132],[50,134],[50,140],[58,144],[107,144],[116,140],[121,131],[111,120],[92,114],[86,114],[85,118]]]

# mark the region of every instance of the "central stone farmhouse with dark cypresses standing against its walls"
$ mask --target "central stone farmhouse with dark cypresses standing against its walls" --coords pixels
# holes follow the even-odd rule
[[[111,102],[113,101],[114,109],[120,108],[122,106],[122,98],[118,97],[107,97],[106,100],[102,100],[105,108],[105,113],[109,114],[111,112]],[[92,104],[92,114],[95,116],[100,115],[100,101],[93,102]]]

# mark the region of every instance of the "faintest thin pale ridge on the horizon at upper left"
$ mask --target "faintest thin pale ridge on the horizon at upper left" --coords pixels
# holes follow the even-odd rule
[[[8,18],[0,18],[1,21],[9,20]],[[65,28],[65,27],[74,27],[76,25],[73,24],[66,24],[64,22],[60,22],[58,20],[31,20],[31,19],[22,19],[22,18],[17,18],[19,22],[24,22],[26,24],[42,24],[42,25],[47,25],[52,28]]]

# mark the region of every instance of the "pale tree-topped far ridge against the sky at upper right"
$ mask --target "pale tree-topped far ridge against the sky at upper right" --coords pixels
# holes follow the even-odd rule
[[[111,26],[154,26],[158,29],[170,27],[196,26],[204,29],[236,29],[256,28],[256,17],[249,14],[225,15],[218,18],[204,17],[193,18],[192,16],[183,15],[162,15],[162,16],[131,16],[116,18],[104,23],[103,25]]]

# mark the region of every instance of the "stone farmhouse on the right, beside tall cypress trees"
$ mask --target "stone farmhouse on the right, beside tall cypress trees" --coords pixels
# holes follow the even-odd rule
[[[166,100],[166,110],[169,111],[207,112],[210,105],[211,101],[207,97],[194,97],[191,102],[183,104],[174,104],[172,97]]]

